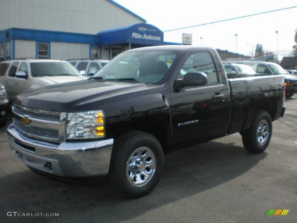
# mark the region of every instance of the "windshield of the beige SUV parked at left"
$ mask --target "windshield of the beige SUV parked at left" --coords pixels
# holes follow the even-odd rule
[[[32,77],[42,76],[81,76],[68,62],[32,62]]]

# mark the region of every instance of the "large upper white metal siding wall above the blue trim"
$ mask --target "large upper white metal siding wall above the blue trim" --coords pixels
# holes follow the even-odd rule
[[[0,30],[15,27],[96,34],[143,22],[106,0],[1,0]]]

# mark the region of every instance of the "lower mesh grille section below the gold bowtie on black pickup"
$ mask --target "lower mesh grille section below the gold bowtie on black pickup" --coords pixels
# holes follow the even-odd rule
[[[18,128],[20,131],[23,131],[27,134],[32,134],[35,136],[41,136],[51,139],[58,139],[59,138],[59,131],[56,129],[45,129],[39,128],[35,126],[25,125],[24,123],[13,119],[13,125]]]

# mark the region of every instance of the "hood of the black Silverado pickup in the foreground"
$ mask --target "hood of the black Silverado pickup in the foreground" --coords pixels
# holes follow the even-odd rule
[[[113,100],[116,96],[146,88],[148,85],[141,83],[74,81],[24,92],[17,95],[13,103],[45,111],[76,112],[84,110],[82,107],[87,103]]]

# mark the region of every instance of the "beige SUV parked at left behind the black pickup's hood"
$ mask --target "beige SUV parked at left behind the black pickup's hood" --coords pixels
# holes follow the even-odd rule
[[[51,59],[16,59],[0,62],[0,83],[11,101],[26,90],[85,79],[68,62]]]

